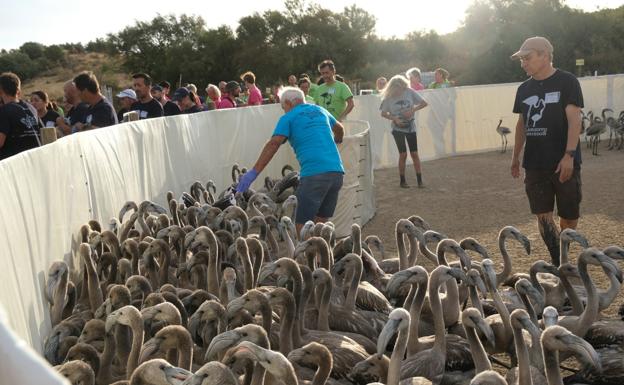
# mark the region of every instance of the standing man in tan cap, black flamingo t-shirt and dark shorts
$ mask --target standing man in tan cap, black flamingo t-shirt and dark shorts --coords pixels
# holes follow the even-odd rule
[[[518,87],[513,112],[518,114],[511,175],[520,176],[520,152],[531,212],[553,264],[559,265],[559,229],[576,229],[581,203],[581,108],[583,92],[569,72],[552,65],[553,47],[543,37],[527,39],[512,59],[530,76]],[[525,145],[526,143],[526,145]]]

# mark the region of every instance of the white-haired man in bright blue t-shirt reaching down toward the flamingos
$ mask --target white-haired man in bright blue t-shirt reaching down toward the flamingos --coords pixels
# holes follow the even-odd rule
[[[307,221],[325,222],[334,215],[344,175],[336,143],[342,142],[344,127],[324,108],[306,104],[305,95],[298,88],[284,88],[280,102],[285,114],[277,122],[255,166],[241,177],[237,191],[247,191],[288,140],[301,166],[295,214],[299,234]]]

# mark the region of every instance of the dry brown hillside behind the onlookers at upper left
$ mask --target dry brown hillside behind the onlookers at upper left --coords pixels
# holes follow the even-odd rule
[[[28,98],[31,92],[42,90],[52,100],[63,100],[63,84],[81,71],[95,73],[100,85],[113,87],[117,91],[131,85],[130,75],[122,69],[122,59],[103,53],[71,53],[67,55],[67,64],[45,71],[41,76],[27,80],[22,84],[22,95]]]

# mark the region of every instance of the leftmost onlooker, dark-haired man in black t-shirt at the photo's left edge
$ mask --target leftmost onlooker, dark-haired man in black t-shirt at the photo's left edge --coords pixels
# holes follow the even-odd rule
[[[33,106],[19,100],[20,86],[14,73],[0,74],[0,160],[41,145],[41,120]]]

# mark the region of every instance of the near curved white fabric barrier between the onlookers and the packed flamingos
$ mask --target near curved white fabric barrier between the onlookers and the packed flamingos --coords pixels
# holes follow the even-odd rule
[[[7,267],[0,270],[0,300],[9,325],[41,351],[50,331],[47,268],[64,259],[76,279],[82,224],[97,219],[107,228],[127,200],[166,206],[167,191],[179,196],[196,180],[213,179],[224,189],[234,163],[253,166],[282,113],[273,105],[128,122],[0,162],[0,253]],[[340,145],[346,177],[333,219],[339,236],[374,215],[368,123],[345,124],[353,136]],[[254,186],[278,177],[284,164],[297,166],[288,144]]]

